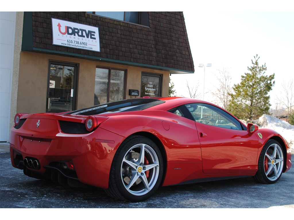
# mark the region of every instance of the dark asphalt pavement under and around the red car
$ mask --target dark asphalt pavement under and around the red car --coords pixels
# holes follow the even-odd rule
[[[150,199],[133,203],[95,187],[70,188],[27,177],[12,167],[9,143],[1,143],[0,150],[0,208],[294,208],[294,167],[275,184],[244,177],[160,187]]]

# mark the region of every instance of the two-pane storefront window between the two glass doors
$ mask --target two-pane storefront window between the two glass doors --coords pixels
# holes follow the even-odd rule
[[[124,99],[125,72],[96,68],[94,105]]]

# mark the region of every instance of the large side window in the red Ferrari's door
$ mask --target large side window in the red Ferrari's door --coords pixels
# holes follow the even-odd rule
[[[192,103],[185,106],[196,122],[221,128],[243,130],[238,120],[216,106],[204,103]]]

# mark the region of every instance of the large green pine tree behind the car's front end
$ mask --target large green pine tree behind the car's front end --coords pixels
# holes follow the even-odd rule
[[[266,66],[258,64],[259,56],[251,60],[252,66],[247,67],[250,73],[241,76],[240,84],[234,84],[228,110],[239,119],[256,119],[269,114],[270,96],[268,93],[275,84],[275,74],[265,75]]]

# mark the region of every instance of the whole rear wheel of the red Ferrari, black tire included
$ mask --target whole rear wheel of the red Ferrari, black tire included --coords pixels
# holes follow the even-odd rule
[[[106,192],[112,197],[141,202],[158,189],[163,174],[160,150],[149,138],[130,136],[113,158]]]

